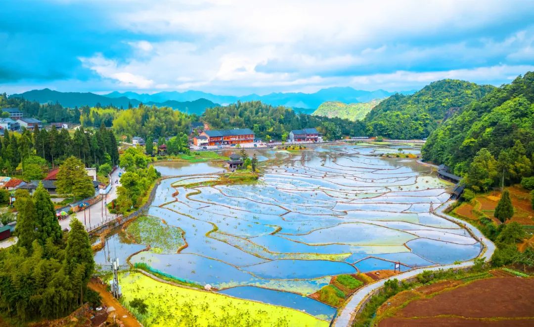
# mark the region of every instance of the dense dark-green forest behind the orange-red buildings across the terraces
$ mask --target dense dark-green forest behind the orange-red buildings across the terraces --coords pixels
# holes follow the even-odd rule
[[[325,139],[343,135],[362,135],[365,125],[348,119],[296,114],[287,107],[273,107],[260,101],[237,102],[225,107],[206,109],[201,117],[213,129],[250,128],[257,138],[283,140],[291,130],[317,127]]]

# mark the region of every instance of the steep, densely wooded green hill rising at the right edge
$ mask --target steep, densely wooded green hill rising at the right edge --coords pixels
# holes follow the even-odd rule
[[[422,156],[472,178],[483,171],[488,182],[501,177],[503,169],[508,182],[529,176],[534,170],[534,72],[447,119],[430,134]]]

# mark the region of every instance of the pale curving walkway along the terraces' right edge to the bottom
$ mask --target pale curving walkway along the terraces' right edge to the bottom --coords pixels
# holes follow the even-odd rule
[[[434,166],[431,164],[427,164],[430,166]],[[464,220],[460,220],[454,217],[451,217],[443,212],[449,206],[451,201],[447,201],[443,203],[439,208],[437,208],[434,213],[437,214],[437,216],[445,218],[447,220],[451,220],[453,222],[456,222],[458,225],[466,228],[470,234],[474,235],[484,246],[484,249],[482,250],[481,254],[478,256],[480,258],[485,258],[486,260],[489,260],[491,256],[493,256],[493,252],[495,251],[495,244],[491,242],[488,238],[486,238],[480,230],[475,228],[474,226],[470,225],[468,222],[465,222]],[[356,310],[358,310],[363,304],[365,304],[365,300],[367,300],[372,294],[380,289],[384,283],[388,280],[393,280],[394,278],[397,278],[397,280],[402,281],[406,280],[408,278],[414,277],[420,273],[422,273],[424,270],[430,270],[430,271],[436,271],[439,269],[458,269],[458,268],[468,268],[473,266],[474,260],[464,261],[461,262],[458,265],[444,265],[444,266],[433,266],[433,267],[426,267],[426,268],[418,268],[409,270],[405,273],[398,274],[395,276],[391,276],[389,278],[384,278],[383,280],[377,281],[372,284],[368,284],[364,286],[363,288],[356,291],[352,296],[350,297],[349,301],[347,302],[347,305],[343,307],[339,315],[336,316],[334,322],[332,323],[332,326],[336,327],[345,327],[350,326],[352,322],[352,317],[355,314]]]

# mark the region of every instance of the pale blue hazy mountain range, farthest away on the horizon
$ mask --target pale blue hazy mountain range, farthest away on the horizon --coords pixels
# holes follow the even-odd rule
[[[168,100],[175,101],[191,101],[194,99],[204,98],[215,103],[226,105],[235,103],[238,100],[245,101],[262,101],[272,106],[286,106],[300,109],[301,111],[310,111],[305,109],[317,109],[321,103],[326,101],[340,101],[345,103],[352,102],[368,102],[373,99],[387,98],[392,94],[413,94],[415,91],[405,92],[388,92],[384,90],[376,91],[362,91],[355,90],[352,87],[329,87],[328,89],[321,89],[315,93],[302,92],[288,92],[288,93],[270,93],[266,95],[249,94],[242,97],[235,97],[233,95],[216,95],[201,91],[185,91],[185,92],[159,92],[154,94],[139,94],[135,92],[112,92],[105,94],[109,98],[127,97],[143,101],[162,102]]]

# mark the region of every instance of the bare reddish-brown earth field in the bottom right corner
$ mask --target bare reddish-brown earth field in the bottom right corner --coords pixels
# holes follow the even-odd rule
[[[532,326],[534,278],[492,277],[409,302],[379,326]]]

